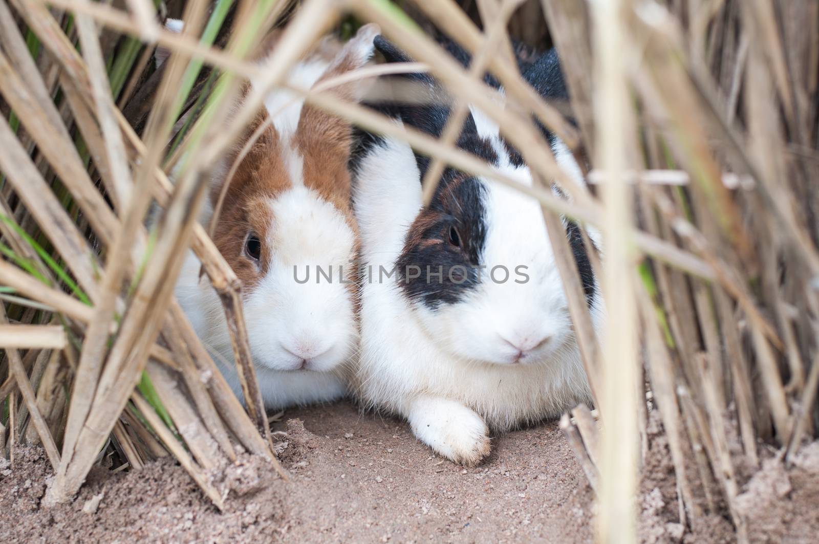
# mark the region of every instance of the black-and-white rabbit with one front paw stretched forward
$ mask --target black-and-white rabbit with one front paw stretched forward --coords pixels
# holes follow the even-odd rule
[[[381,37],[375,43],[387,61],[410,60]],[[545,97],[565,97],[554,52],[524,76]],[[440,137],[450,116],[440,102],[446,93],[426,74],[394,77],[428,89],[429,100],[379,109]],[[549,141],[582,183],[572,154],[554,135]],[[458,146],[532,185],[520,154],[481,111],[471,108]],[[428,165],[408,144],[373,134],[351,162],[363,261],[355,392],[404,416],[441,456],[473,465],[489,453],[490,431],[554,417],[590,392],[540,204],[447,167],[424,207]],[[600,325],[603,301],[580,231],[564,225]]]

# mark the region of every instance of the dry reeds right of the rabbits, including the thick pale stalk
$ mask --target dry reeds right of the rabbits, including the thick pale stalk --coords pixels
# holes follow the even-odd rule
[[[609,235],[595,373],[603,434],[582,409],[562,422],[599,488],[600,534],[635,516],[645,392],[667,435],[681,523],[730,516],[744,541],[738,467],[758,467],[763,445],[790,463],[819,424],[819,6],[543,4]],[[640,230],[620,238],[629,206]],[[634,249],[645,234],[699,270],[644,260]]]

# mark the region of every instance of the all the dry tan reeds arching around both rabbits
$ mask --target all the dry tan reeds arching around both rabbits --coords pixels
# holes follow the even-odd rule
[[[149,0],[0,0],[0,448],[42,442],[57,474],[51,501],[73,496],[100,456],[138,469],[170,452],[216,505],[224,496],[207,473],[239,446],[276,465],[241,285],[197,211],[208,169],[264,90],[351,15],[426,64],[455,119],[466,104],[485,111],[539,180],[526,190],[543,206],[603,424],[586,408],[563,420],[599,491],[600,536],[634,539],[646,391],[681,523],[726,509],[742,536],[733,429],[756,465],[762,442],[788,462],[819,425],[819,27],[805,24],[816,2],[305,0],[272,56],[251,62],[288,3],[167,2],[160,11],[186,21],[174,34]],[[473,66],[438,47],[430,25]],[[574,123],[523,82],[510,33],[559,48]],[[170,52],[158,70],[157,45]],[[226,125],[251,76],[256,90]],[[519,188],[454,147],[455,122],[436,141],[326,91],[294,90],[405,138],[433,157],[431,173],[450,164]],[[585,151],[592,190],[568,180],[532,116]],[[162,213],[149,233],[152,202]],[[592,258],[609,312],[600,337],[559,215],[604,233],[603,265]],[[188,247],[224,302],[247,413],[174,301]]]

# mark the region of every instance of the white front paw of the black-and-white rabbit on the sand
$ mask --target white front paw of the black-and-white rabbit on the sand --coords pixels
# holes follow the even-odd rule
[[[459,402],[419,397],[410,403],[407,419],[421,442],[455,463],[473,466],[489,455],[486,423]]]

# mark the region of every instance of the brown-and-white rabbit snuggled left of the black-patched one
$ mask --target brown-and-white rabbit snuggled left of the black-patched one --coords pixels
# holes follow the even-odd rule
[[[288,83],[311,88],[364,66],[378,27],[365,25],[337,55],[314,54],[293,67]],[[252,82],[251,82],[252,84]],[[359,99],[360,82],[333,88]],[[272,121],[272,122],[271,122]],[[260,128],[267,124],[266,128]],[[245,149],[250,135],[260,137]],[[258,134],[258,133],[257,133]],[[265,406],[329,401],[346,392],[345,366],[359,339],[354,275],[358,229],[351,211],[347,161],[351,126],[296,93],[270,93],[265,108],[214,175],[210,221],[234,161],[214,242],[243,283],[243,309]],[[326,275],[304,281],[321,266]],[[199,337],[241,398],[219,298],[197,259],[188,256],[175,294]]]

